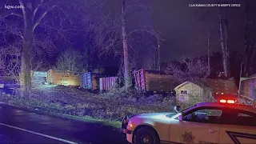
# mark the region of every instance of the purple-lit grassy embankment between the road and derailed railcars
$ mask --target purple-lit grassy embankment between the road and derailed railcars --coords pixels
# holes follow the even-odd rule
[[[144,97],[134,90],[92,94],[67,86],[37,86],[30,98],[0,94],[0,101],[62,118],[120,127],[125,115],[172,112],[174,99]]]

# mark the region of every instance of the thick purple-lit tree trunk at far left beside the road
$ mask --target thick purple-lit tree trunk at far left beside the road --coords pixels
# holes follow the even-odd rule
[[[31,90],[31,51],[34,41],[32,29],[33,14],[26,10],[24,14],[24,41],[22,48],[22,68],[21,68],[21,91],[22,97],[29,97]]]

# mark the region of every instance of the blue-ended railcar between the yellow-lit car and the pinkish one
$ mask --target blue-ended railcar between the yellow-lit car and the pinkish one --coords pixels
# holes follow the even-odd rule
[[[95,74],[86,72],[81,75],[82,88],[87,90],[99,90],[99,78],[104,77],[104,74]]]

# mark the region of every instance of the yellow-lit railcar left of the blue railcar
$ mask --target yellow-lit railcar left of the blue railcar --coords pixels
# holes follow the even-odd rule
[[[54,85],[81,86],[81,75],[69,70],[48,70],[46,80]]]

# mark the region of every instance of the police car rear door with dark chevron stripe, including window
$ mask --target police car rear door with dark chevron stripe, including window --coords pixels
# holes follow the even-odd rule
[[[226,108],[220,124],[219,143],[256,143],[256,114],[246,110]]]

